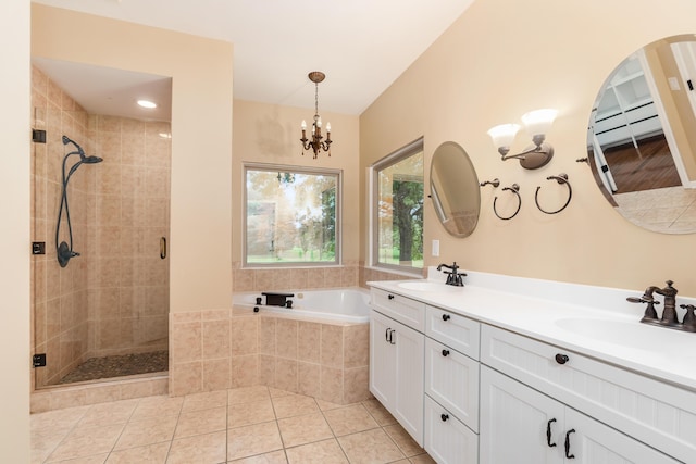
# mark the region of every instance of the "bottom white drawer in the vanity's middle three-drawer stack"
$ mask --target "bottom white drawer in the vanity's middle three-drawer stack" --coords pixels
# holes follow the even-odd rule
[[[478,462],[478,436],[427,394],[425,451],[439,464]]]

